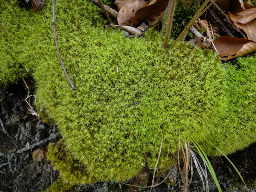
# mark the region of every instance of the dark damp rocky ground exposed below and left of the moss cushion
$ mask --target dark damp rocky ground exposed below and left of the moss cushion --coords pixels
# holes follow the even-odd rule
[[[29,88],[30,95],[33,94],[35,83],[32,79],[25,79]],[[32,115],[25,98],[28,95],[28,90],[24,82],[21,80],[19,84],[12,85],[7,90],[0,90],[0,114],[1,120],[4,123],[4,128],[8,134],[12,137],[19,149],[28,147],[44,140],[50,136],[50,134],[56,134],[57,128],[55,125],[47,125],[42,122],[42,119]],[[31,97],[30,104],[33,103]],[[16,153],[17,149],[10,140],[10,138],[0,131],[0,191],[3,192],[36,192],[45,190],[52,182],[58,179],[59,173],[52,170],[51,177],[51,165],[46,159],[42,159],[39,162],[34,162],[32,158],[32,152],[42,147],[45,150],[49,141],[44,145],[38,145],[32,149],[26,150],[22,153]],[[56,142],[60,137],[57,137],[50,142]],[[200,157],[197,156],[200,161]],[[244,150],[238,151],[228,158],[236,165],[238,171],[244,178],[250,192],[256,191],[256,143],[250,145]],[[212,167],[215,171],[217,179],[220,183],[222,191],[227,192],[242,192],[246,191],[242,180],[236,173],[235,169],[228,162],[225,157],[209,157]],[[203,165],[203,162],[200,162]],[[196,166],[193,165],[193,178],[188,188],[189,192],[201,192],[204,191],[202,181],[196,170]],[[189,173],[190,179],[191,172]],[[164,175],[166,176],[166,175]],[[176,178],[175,178],[176,177]],[[157,180],[155,178],[155,182]],[[158,182],[161,182],[163,178],[160,178]],[[152,174],[149,175],[148,185],[152,182]],[[158,183],[157,182],[157,183]],[[217,187],[208,172],[208,182],[210,191],[218,191]],[[132,180],[127,183],[131,184]],[[156,184],[157,184],[156,183]],[[168,184],[167,184],[168,183]],[[181,181],[181,174],[179,169],[174,166],[171,171],[171,177],[167,179],[161,185],[158,185],[154,192],[168,192],[179,191],[183,183]],[[98,181],[90,186],[74,186],[73,191],[76,192],[123,192],[129,186],[119,183],[104,183]],[[150,188],[145,188],[144,192],[148,192]]]

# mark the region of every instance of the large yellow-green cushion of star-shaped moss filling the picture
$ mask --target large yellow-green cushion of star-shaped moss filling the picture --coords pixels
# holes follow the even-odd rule
[[[240,59],[236,68],[190,44],[166,52],[163,36],[153,29],[143,38],[125,38],[105,30],[105,20],[88,1],[63,0],[56,4],[56,31],[77,88],[72,92],[53,41],[52,1],[38,13],[17,8],[15,1],[0,4],[2,85],[20,78],[22,64],[31,68],[37,108],[64,136],[65,142],[49,146],[64,180],[129,180],[146,163],[155,167],[163,138],[162,167],[168,146],[170,153],[178,151],[179,131],[182,143],[190,134],[207,155],[220,153],[200,138],[225,154],[255,141],[255,59]]]

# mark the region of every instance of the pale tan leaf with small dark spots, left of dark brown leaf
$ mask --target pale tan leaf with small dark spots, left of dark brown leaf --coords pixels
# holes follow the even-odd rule
[[[142,7],[145,7],[148,4],[144,0],[136,0],[133,3],[127,3],[122,7],[117,16],[117,22],[119,25],[131,25],[131,19],[134,17],[135,13]]]

